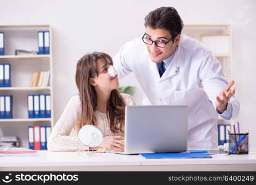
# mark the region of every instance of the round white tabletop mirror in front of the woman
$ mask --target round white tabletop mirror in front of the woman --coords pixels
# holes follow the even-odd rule
[[[78,138],[87,147],[98,147],[103,140],[103,134],[96,126],[85,125],[80,129]]]

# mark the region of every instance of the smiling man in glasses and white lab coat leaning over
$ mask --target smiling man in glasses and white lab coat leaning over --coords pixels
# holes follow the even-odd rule
[[[183,22],[173,7],[150,12],[144,25],[142,38],[114,57],[118,78],[134,73],[146,95],[143,104],[188,105],[188,149],[217,148],[218,115],[230,120],[239,112],[234,81],[226,81],[209,49],[181,35]]]

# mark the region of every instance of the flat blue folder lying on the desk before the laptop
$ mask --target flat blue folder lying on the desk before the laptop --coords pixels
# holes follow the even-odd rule
[[[152,153],[139,155],[144,158],[212,158],[212,156],[204,153]]]

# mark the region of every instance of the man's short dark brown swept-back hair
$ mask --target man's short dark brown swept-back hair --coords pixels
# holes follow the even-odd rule
[[[174,7],[160,7],[146,15],[144,25],[153,29],[168,30],[174,41],[176,36],[181,34],[183,21]]]

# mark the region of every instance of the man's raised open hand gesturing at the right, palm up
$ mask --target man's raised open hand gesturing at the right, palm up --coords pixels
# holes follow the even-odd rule
[[[234,80],[229,81],[228,86],[223,89],[220,94],[216,97],[217,101],[215,102],[215,106],[217,107],[220,113],[223,113],[226,110],[229,99],[234,95],[236,89],[230,90],[231,86],[233,86]]]

